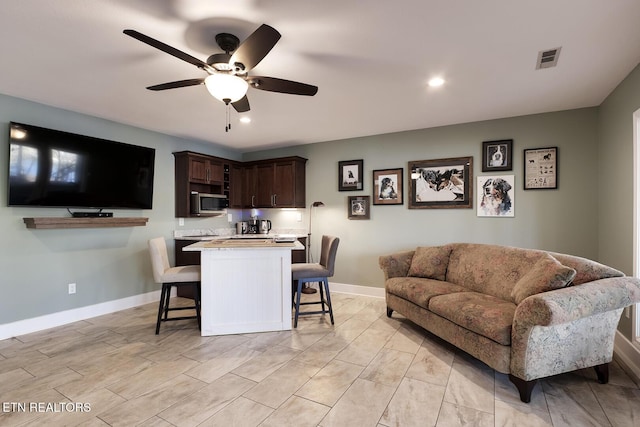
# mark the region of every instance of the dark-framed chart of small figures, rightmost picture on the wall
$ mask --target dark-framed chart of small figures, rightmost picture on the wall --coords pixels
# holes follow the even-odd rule
[[[524,150],[524,189],[558,188],[558,147]]]

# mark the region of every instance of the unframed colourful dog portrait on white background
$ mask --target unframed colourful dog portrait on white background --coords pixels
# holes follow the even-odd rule
[[[478,216],[512,217],[515,175],[478,177]]]

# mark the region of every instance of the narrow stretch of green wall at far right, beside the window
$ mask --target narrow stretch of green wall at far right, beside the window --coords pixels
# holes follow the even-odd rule
[[[600,260],[633,273],[633,114],[640,109],[640,66],[599,109],[598,231]],[[631,319],[620,331],[631,338]]]

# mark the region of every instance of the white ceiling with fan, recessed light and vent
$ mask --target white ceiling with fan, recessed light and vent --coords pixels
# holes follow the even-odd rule
[[[206,60],[262,23],[282,38],[250,74],[319,91],[249,89],[228,133],[204,86],[145,89],[203,71],[122,34]],[[599,105],[640,61],[640,1],[3,0],[0,58],[0,93],[251,151]]]

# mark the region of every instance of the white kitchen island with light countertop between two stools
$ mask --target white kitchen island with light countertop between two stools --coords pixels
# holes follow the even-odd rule
[[[291,329],[291,251],[297,240],[215,239],[184,251],[201,256],[201,334]]]

